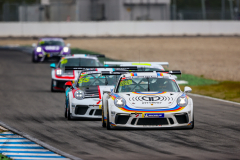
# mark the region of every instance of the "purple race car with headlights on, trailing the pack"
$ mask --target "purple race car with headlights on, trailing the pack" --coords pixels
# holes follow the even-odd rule
[[[62,38],[41,38],[32,53],[32,62],[60,60],[62,56],[70,56],[70,44],[65,45]]]

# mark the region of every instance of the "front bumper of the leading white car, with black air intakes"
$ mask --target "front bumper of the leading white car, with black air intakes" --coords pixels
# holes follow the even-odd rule
[[[183,110],[182,112],[171,113],[149,113],[161,116],[149,118],[148,113],[110,113],[111,127],[130,127],[130,128],[177,128],[177,127],[191,127],[192,125],[192,111]],[[104,118],[105,119],[105,118]]]

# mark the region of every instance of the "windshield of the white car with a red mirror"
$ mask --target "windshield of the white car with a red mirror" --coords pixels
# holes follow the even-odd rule
[[[105,85],[116,85],[120,75],[105,75],[101,76],[100,73],[96,74],[85,74],[78,80],[79,87],[87,86],[105,86]]]

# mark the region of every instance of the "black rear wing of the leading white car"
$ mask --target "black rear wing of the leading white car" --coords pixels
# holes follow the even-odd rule
[[[162,71],[162,70],[159,70],[159,71],[133,71],[133,73],[141,73],[141,72],[144,72],[144,73],[153,73],[153,72],[161,72],[161,73],[167,73],[167,74],[173,74],[173,75],[181,75],[182,72],[180,70],[172,70],[172,71]],[[102,75],[107,75],[107,74],[126,74],[126,73],[130,73],[130,72],[126,72],[126,71],[102,71]]]

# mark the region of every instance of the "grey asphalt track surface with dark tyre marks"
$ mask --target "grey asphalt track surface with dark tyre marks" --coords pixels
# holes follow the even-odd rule
[[[240,105],[193,97],[193,130],[113,130],[64,118],[49,63],[0,50],[0,120],[73,156],[91,159],[240,159]]]

